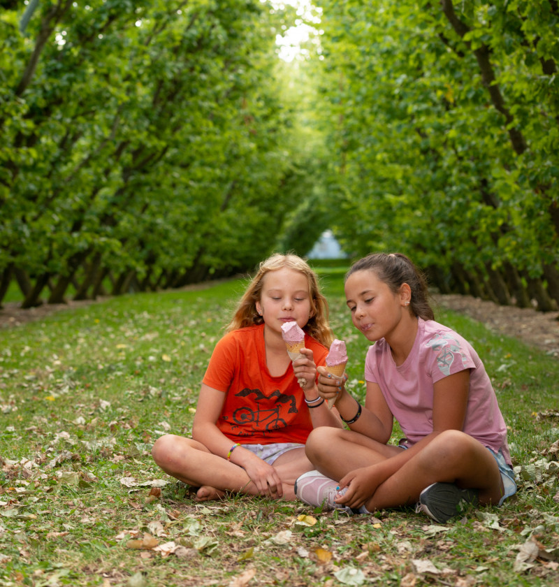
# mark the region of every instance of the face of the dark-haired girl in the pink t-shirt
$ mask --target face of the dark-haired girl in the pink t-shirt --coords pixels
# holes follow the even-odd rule
[[[345,282],[351,319],[372,342],[381,338],[390,342],[402,315],[407,312],[405,303],[409,301],[409,293],[407,284],[402,284],[400,291],[394,293],[372,270],[356,271]]]

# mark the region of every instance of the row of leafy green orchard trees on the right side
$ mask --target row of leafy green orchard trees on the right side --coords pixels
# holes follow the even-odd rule
[[[443,292],[556,308],[557,0],[321,6],[345,249],[405,252]]]

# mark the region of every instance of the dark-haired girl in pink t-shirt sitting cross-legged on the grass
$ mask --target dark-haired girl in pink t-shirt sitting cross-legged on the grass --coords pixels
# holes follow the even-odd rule
[[[310,505],[369,513],[417,504],[439,523],[467,505],[501,505],[516,493],[507,428],[472,346],[434,320],[426,282],[402,254],[372,254],[346,276],[356,328],[375,345],[361,406],[319,368],[319,393],[335,399],[349,430],[317,428],[298,478]],[[396,419],[405,438],[386,444]]]

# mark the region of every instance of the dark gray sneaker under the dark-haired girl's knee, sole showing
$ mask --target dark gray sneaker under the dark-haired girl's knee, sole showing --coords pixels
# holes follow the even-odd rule
[[[440,524],[463,514],[479,503],[477,489],[460,489],[453,483],[433,483],[421,491],[415,511]]]

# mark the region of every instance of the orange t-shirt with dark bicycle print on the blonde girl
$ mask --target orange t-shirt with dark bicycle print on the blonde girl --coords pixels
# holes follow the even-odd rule
[[[305,334],[314,363],[324,365],[328,349]],[[264,325],[227,333],[215,346],[203,383],[225,393],[217,427],[233,442],[306,442],[312,422],[293,365],[279,377],[266,366]]]

